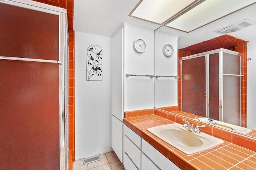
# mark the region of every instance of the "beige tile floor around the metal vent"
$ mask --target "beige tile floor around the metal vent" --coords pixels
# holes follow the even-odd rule
[[[85,165],[83,159],[76,160],[73,162],[73,170],[125,170],[114,151],[100,154],[100,158],[101,160]]]

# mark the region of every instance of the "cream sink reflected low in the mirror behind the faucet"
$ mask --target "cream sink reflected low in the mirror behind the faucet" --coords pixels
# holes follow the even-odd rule
[[[207,121],[209,118],[207,117],[201,117],[199,118],[200,120],[202,121]],[[217,124],[215,124],[216,126],[218,127],[224,127],[228,130],[232,130],[232,131],[237,131],[237,132],[240,132],[240,133],[249,133],[250,131],[252,131],[251,129],[247,129],[245,127],[240,127],[240,126],[237,126],[237,125],[232,125],[230,123],[225,123],[225,122],[222,122],[222,121],[218,121],[218,120],[214,120],[214,121],[211,121],[211,122],[216,122]]]

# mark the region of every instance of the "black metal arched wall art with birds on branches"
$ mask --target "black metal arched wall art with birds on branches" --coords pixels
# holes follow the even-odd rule
[[[90,45],[87,49],[86,80],[102,80],[102,49],[98,45]]]

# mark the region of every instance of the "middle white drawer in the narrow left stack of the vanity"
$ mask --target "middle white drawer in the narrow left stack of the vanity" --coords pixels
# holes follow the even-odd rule
[[[140,169],[141,150],[126,136],[124,136],[124,152],[128,154],[132,162]]]

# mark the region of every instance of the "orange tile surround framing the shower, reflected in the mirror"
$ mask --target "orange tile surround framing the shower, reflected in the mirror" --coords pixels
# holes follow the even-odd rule
[[[216,37],[214,39],[210,39],[198,44],[191,45],[189,47],[185,47],[183,49],[178,50],[178,76],[181,77],[181,58],[186,57],[188,55],[193,55],[197,53],[202,53],[206,51],[211,51],[215,49],[229,49],[232,51],[237,51],[242,53],[241,57],[241,72],[242,81],[241,81],[241,126],[246,127],[246,86],[247,86],[247,42],[242,39],[238,39],[236,37],[230,35],[222,35],[220,37]],[[178,106],[179,110],[181,110],[181,78],[178,79]]]

